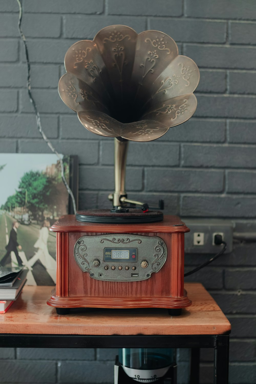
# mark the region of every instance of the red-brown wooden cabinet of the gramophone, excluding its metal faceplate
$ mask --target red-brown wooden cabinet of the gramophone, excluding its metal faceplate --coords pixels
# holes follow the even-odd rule
[[[189,229],[185,224],[180,224],[183,223],[177,216],[168,215],[164,222],[140,225],[81,223],[74,215],[64,216],[51,227],[51,230],[58,231],[57,281],[56,291],[48,304],[60,308],[184,308],[191,305],[184,293],[183,277],[184,232]],[[159,272],[152,273],[149,279],[142,281],[102,281],[91,278],[88,272],[83,272],[77,265],[74,245],[82,236],[106,233],[162,238],[167,245],[164,266]]]

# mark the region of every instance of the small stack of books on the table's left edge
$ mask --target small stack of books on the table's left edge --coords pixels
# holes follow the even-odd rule
[[[7,312],[20,296],[27,272],[23,268],[0,268],[0,313]]]

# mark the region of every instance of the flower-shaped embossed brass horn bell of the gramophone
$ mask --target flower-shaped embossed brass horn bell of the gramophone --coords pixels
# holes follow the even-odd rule
[[[101,136],[152,141],[197,108],[199,70],[175,41],[124,25],[103,28],[67,51],[59,94],[83,126]]]

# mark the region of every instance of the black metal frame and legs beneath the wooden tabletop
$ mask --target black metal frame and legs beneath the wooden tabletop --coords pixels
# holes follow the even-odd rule
[[[110,347],[111,346],[111,347]],[[190,384],[199,383],[200,348],[214,348],[214,384],[228,384],[229,334],[0,334],[3,348],[191,348]]]

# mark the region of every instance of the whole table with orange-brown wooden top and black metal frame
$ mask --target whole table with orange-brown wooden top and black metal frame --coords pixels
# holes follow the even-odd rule
[[[215,384],[228,383],[230,323],[199,283],[186,283],[192,306],[165,309],[73,309],[59,316],[46,305],[49,286],[25,286],[0,315],[0,346],[46,348],[192,348],[191,381],[199,382],[200,348],[215,348]]]

